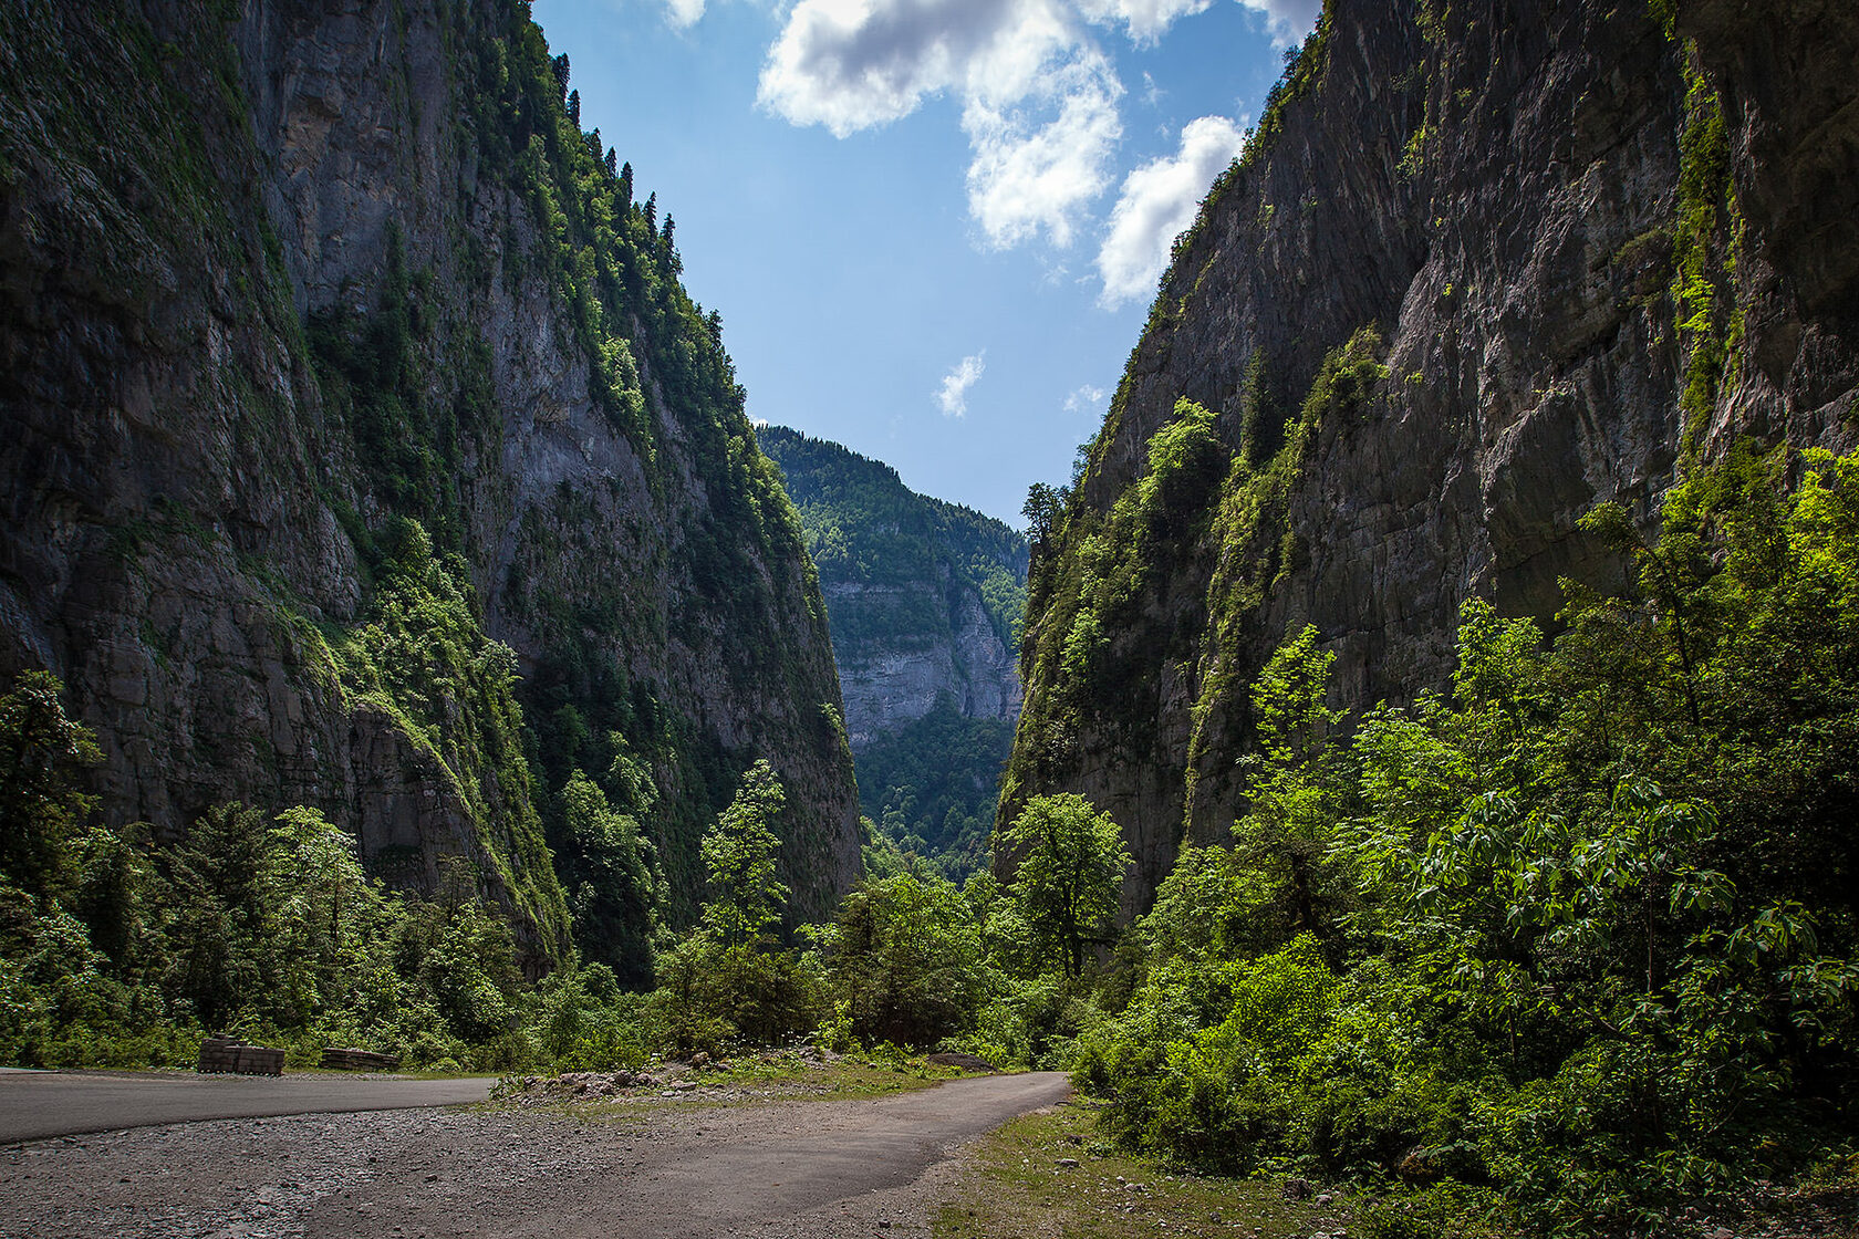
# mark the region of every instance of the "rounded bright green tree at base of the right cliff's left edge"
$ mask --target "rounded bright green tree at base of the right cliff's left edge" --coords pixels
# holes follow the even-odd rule
[[[1104,929],[1117,912],[1130,867],[1123,830],[1080,795],[1041,795],[1008,827],[1006,843],[1017,858],[1011,890],[1034,951],[1076,977],[1086,951],[1108,940]]]

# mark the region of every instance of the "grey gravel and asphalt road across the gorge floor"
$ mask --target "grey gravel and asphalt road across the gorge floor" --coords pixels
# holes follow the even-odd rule
[[[422,1109],[67,1137],[0,1150],[0,1235],[924,1235],[959,1146],[1065,1094],[1032,1074],[591,1120]]]

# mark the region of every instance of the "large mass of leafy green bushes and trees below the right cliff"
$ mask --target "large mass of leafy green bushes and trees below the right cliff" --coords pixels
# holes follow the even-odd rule
[[[1249,812],[1140,923],[1080,1077],[1223,1170],[1487,1185],[1545,1230],[1800,1172],[1859,1113],[1859,459],[1738,451],[1549,646],[1467,604],[1452,697],[1344,737],[1307,632]]]

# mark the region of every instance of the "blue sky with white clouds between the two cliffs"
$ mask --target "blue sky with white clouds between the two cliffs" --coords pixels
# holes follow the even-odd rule
[[[1320,0],[535,0],[749,416],[1021,526]]]

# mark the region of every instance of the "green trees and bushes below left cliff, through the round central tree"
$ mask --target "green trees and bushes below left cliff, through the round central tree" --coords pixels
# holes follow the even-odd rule
[[[225,804],[169,841],[110,828],[76,789],[97,756],[50,676],[0,697],[6,1063],[178,1064],[225,1031],[286,1046],[292,1066],[366,1046],[439,1070],[613,1068],[807,1037],[1050,1059],[1076,1024],[1076,986],[1058,975],[1078,970],[1121,873],[1108,819],[1075,797],[1035,802],[1024,879],[874,875],[835,921],[790,933],[775,871],[786,793],[755,762],[703,838],[701,921],[673,938],[654,916],[649,845],[576,776],[571,821],[599,836],[586,853],[608,866],[599,906],[651,934],[654,973],[626,985],[569,955],[532,981],[467,860],[418,897],[372,877],[355,840],[312,808]],[[1067,884],[1080,841],[1102,854]]]

